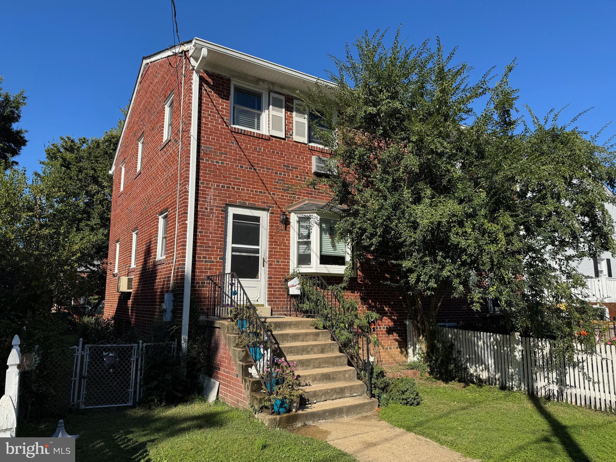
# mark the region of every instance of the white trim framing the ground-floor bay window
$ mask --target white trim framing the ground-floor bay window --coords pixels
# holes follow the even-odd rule
[[[310,266],[298,266],[298,256],[297,256],[297,247],[298,247],[298,219],[300,216],[310,216],[311,217],[311,229],[310,229],[310,241],[311,241],[311,250],[312,254],[310,256]],[[351,261],[351,243],[347,243],[346,245],[346,257],[344,259],[344,265],[322,265],[320,264],[320,239],[321,232],[319,228],[320,219],[334,219],[337,220],[337,217],[333,213],[314,211],[314,212],[306,212],[306,213],[294,213],[291,212],[291,254],[290,254],[290,269],[291,272],[297,271],[303,274],[344,274],[346,270],[346,264]]]

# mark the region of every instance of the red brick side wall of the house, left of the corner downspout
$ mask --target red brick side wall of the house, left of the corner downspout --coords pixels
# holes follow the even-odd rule
[[[176,67],[176,68],[174,68]],[[188,67],[187,67],[188,69]],[[176,70],[179,74],[176,75]],[[173,284],[181,306],[186,245],[187,182],[190,136],[184,134],[179,153],[180,109],[182,108],[182,59],[169,57],[147,65],[126,122],[113,175],[113,200],[107,265],[105,317],[116,318],[124,329],[146,330],[158,315],[164,293],[169,291],[173,249],[177,259]],[[192,72],[184,81],[184,124],[190,123]],[[174,94],[172,136],[163,144],[164,102]],[[137,172],[137,140],[143,136],[142,166]],[[125,163],[124,188],[120,192],[121,164]],[[178,162],[180,196],[177,203]],[[166,258],[156,259],[158,214],[168,211]],[[137,229],[136,267],[131,268],[132,231]],[[120,241],[118,274],[114,274],[116,241]],[[134,291],[117,292],[118,277],[132,275]],[[178,313],[181,318],[181,310]]]

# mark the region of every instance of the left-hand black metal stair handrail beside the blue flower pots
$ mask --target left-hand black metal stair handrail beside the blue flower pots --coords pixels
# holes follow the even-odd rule
[[[278,384],[273,373],[275,359],[282,357],[288,362],[278,341],[259,317],[237,274],[209,275],[206,280],[209,282],[206,315],[231,318],[237,323],[240,334],[245,336],[246,351],[263,389],[268,395],[272,394]],[[273,412],[271,404],[270,412]]]

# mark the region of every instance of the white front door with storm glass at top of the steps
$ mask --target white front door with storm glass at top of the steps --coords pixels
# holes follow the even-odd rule
[[[254,304],[267,293],[267,211],[227,208],[225,272],[235,273]]]

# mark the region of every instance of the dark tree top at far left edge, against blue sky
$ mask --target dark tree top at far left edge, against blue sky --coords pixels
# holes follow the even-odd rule
[[[0,75],[0,168],[2,171],[17,165],[13,160],[26,145],[27,130],[15,128],[22,118],[22,107],[26,105],[26,91],[10,94],[2,90]]]

